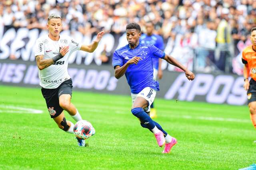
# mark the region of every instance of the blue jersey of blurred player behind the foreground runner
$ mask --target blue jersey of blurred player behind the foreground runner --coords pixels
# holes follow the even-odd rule
[[[152,34],[151,36],[148,36],[147,34],[142,34],[142,36],[140,37],[140,42],[141,43],[153,44],[157,48],[164,51],[164,40],[159,35]],[[154,69],[158,70],[158,65],[159,65],[159,59],[156,58],[156,57],[153,57],[153,67],[154,67]]]

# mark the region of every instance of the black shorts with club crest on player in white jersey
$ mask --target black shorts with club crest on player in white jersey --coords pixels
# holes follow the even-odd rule
[[[55,118],[62,113],[63,109],[60,107],[59,97],[63,94],[72,96],[72,87],[72,79],[64,81],[56,89],[44,89],[42,87],[42,95],[46,101],[51,118]]]

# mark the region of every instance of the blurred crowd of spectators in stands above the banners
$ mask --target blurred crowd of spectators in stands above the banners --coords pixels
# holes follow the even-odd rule
[[[124,34],[126,24],[153,22],[167,52],[183,57],[189,48],[194,69],[240,74],[240,53],[256,26],[256,0],[1,0],[4,30],[46,29],[48,15],[62,16],[63,29],[83,35],[105,30]],[[186,50],[185,50],[186,51]],[[102,57],[104,60],[106,58]]]

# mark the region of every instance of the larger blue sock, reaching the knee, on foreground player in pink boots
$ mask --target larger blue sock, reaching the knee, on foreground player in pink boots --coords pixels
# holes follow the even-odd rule
[[[148,116],[146,112],[144,112],[144,110],[141,107],[136,107],[132,109],[132,114],[138,117],[142,122],[146,123],[150,130],[156,126],[154,121],[150,118],[150,116]]]

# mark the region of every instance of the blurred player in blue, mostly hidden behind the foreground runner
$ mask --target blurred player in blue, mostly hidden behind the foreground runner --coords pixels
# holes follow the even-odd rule
[[[164,40],[161,36],[159,36],[157,34],[153,34],[154,25],[152,22],[146,23],[146,31],[147,31],[146,34],[141,35],[140,42],[147,43],[147,44],[153,44],[158,49],[164,51]],[[163,72],[161,69],[162,59],[160,59],[158,57],[152,57],[152,62],[153,62],[153,70],[154,70],[153,79],[156,80],[157,77],[158,77],[158,79],[162,79],[162,76],[163,76]],[[152,119],[157,117],[156,109],[154,108],[154,102],[150,106],[150,117]]]

